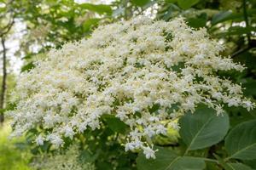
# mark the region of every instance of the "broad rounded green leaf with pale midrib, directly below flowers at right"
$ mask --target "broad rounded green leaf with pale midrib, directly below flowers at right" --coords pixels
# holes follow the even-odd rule
[[[198,150],[217,144],[228,132],[229,116],[217,116],[216,111],[207,107],[196,109],[195,113],[187,113],[179,120],[180,136],[188,145],[187,150]]]

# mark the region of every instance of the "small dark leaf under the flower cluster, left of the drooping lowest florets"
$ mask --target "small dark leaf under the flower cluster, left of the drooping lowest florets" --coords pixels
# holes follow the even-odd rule
[[[104,116],[105,122],[108,123],[108,127],[116,133],[125,133],[125,130],[127,128],[127,125],[120,121],[119,118],[115,116]]]

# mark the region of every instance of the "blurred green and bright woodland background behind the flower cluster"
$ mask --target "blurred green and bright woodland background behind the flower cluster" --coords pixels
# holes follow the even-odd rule
[[[141,14],[155,20],[172,20],[181,15],[195,29],[206,27],[212,38],[224,44],[223,55],[230,55],[236,62],[247,66],[241,73],[218,74],[242,83],[246,96],[255,99],[255,0],[0,0],[0,170],[51,169],[60,159],[68,162],[76,154],[72,150],[78,150],[74,146],[71,151],[67,150],[68,156],[49,159],[49,167],[44,167],[42,162],[45,161],[42,160],[49,157],[50,151],[47,145],[38,148],[32,143],[37,132],[27,133],[20,139],[8,139],[11,127],[5,111],[15,107],[10,102],[10,95],[19,74],[31,70],[34,62],[43,59],[50,48],[61,48],[65,42],[90,37],[99,25],[129,20]],[[241,108],[228,111],[231,125],[236,125],[237,120],[255,118],[255,111],[247,113]],[[108,134],[108,129],[99,133],[102,139]],[[175,132],[172,132],[169,138],[158,142],[172,144],[175,140]],[[96,139],[91,142],[96,143]],[[133,153],[119,150],[117,154],[117,149],[122,146],[106,143],[100,147],[104,148],[103,151],[84,151],[79,156],[95,162],[97,169],[136,169]],[[79,166],[73,168],[95,167],[79,162]]]

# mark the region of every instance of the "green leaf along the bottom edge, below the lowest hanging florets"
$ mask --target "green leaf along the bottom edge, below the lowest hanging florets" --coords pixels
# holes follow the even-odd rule
[[[137,157],[138,170],[200,170],[206,167],[205,162],[192,156],[177,156],[172,150],[158,148],[155,159],[146,159],[143,153]]]

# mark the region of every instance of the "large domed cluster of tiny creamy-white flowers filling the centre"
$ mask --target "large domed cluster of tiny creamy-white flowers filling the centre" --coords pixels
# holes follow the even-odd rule
[[[216,75],[244,69],[221,56],[223,49],[206,29],[195,31],[182,18],[166,22],[139,16],[100,26],[89,39],[52,49],[21,75],[14,135],[40,125],[51,130],[37,143],[61,146],[64,137],[100,128],[101,116],[111,114],[131,128],[125,150],[142,149],[154,158],[148,139],[166,133],[163,121],[199,104],[217,114],[224,105],[253,109],[240,85]],[[178,125],[172,122],[172,127]]]

